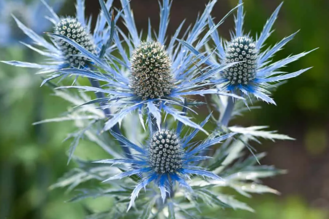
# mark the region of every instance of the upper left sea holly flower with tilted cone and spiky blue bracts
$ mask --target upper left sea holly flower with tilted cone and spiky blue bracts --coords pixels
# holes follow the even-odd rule
[[[53,23],[54,34],[61,35],[70,39],[79,46],[84,47],[86,50],[94,55],[98,55],[101,47],[108,41],[111,32],[111,26],[106,26],[106,16],[100,13],[97,18],[96,27],[93,35],[90,34],[90,25],[85,18],[85,1],[77,0],[76,2],[76,17],[62,17],[60,18],[53,9],[44,1],[41,0],[49,11],[48,19]],[[112,1],[108,1],[106,7],[109,9],[112,6]],[[19,18],[19,17],[18,17]],[[38,52],[47,58],[47,62],[43,64],[28,63],[20,61],[3,61],[4,63],[27,68],[39,68],[38,73],[52,73],[49,78],[45,79],[43,84],[51,79],[68,76],[67,74],[58,72],[63,68],[82,68],[89,67],[90,62],[86,57],[80,56],[77,50],[71,44],[60,40],[54,39],[51,42],[46,41],[43,37],[39,36],[34,30],[30,29],[27,25],[23,24],[18,18],[14,17],[18,27],[32,39],[34,45],[25,44],[27,47]],[[46,19],[46,18],[44,18]],[[24,21],[23,21],[24,22]],[[40,48],[38,48],[40,47]]]

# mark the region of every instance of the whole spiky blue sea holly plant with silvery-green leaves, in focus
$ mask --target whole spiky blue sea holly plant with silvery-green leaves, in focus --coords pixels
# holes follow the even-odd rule
[[[16,18],[41,48],[28,47],[49,59],[41,64],[5,63],[39,68],[38,73],[46,73],[43,85],[71,105],[64,115],[36,124],[72,121],[77,128],[68,138],[73,138],[69,160],[78,167],[51,188],[79,187],[70,201],[102,196],[113,201],[107,211],[89,209],[88,218],[218,218],[225,208],[253,211],[237,194],[279,194],[261,179],[285,171],[262,165],[266,154],[252,146],[264,139],[293,139],[267,131],[267,126],[229,122],[253,110],[251,103],[257,99],[274,103],[267,95],[280,84],[274,82],[307,70],[285,74],[279,69],[308,52],[271,62],[294,34],[262,50],[281,5],[255,40],[243,33],[242,1],[215,24],[211,12],[216,0],[212,0],[194,24],[184,30],[182,22],[168,36],[173,1],[159,2],[158,31],[152,31],[150,20],[144,34],[136,27],[128,0],[121,0],[119,9],[111,9],[112,0],[99,0],[102,11],[94,30],[85,19],[83,0],[77,0],[75,17],[60,17],[46,5],[54,24],[54,31],[47,33],[50,41]],[[236,11],[235,32],[226,42],[217,28]],[[124,29],[116,25],[122,21]],[[74,77],[69,86],[63,80],[68,76]],[[89,79],[87,85],[82,78]],[[193,96],[205,96],[205,101]],[[219,119],[211,111],[199,110],[200,105],[209,109],[215,105]],[[102,148],[102,157],[74,156],[83,138]],[[99,186],[88,188],[87,181]],[[226,193],[224,187],[236,193]]]

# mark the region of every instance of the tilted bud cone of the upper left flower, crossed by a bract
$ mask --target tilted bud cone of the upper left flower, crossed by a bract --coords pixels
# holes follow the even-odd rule
[[[61,34],[63,36],[66,36],[67,38],[70,38],[73,41],[76,41],[90,52],[95,52],[95,45],[92,42],[89,34],[76,18],[63,18],[55,26],[55,33]],[[66,57],[66,61],[68,61],[71,66],[79,68],[81,66],[86,66],[86,64],[89,64],[87,58],[75,56],[80,52],[74,46],[63,40],[58,40],[57,43],[60,46],[63,55]]]

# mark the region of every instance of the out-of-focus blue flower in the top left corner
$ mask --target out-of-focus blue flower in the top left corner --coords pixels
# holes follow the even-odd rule
[[[45,1],[49,2],[49,0]],[[58,11],[63,2],[63,0],[56,1],[54,10]],[[51,22],[43,19],[46,16],[44,9],[38,0],[30,3],[24,0],[0,0],[0,46],[29,41],[29,38],[17,27],[12,16],[18,18],[37,34],[48,30]]]

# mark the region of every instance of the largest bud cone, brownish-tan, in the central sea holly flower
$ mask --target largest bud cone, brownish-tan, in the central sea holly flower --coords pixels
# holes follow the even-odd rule
[[[173,87],[171,62],[159,42],[142,42],[131,57],[131,83],[143,100],[170,94]]]

